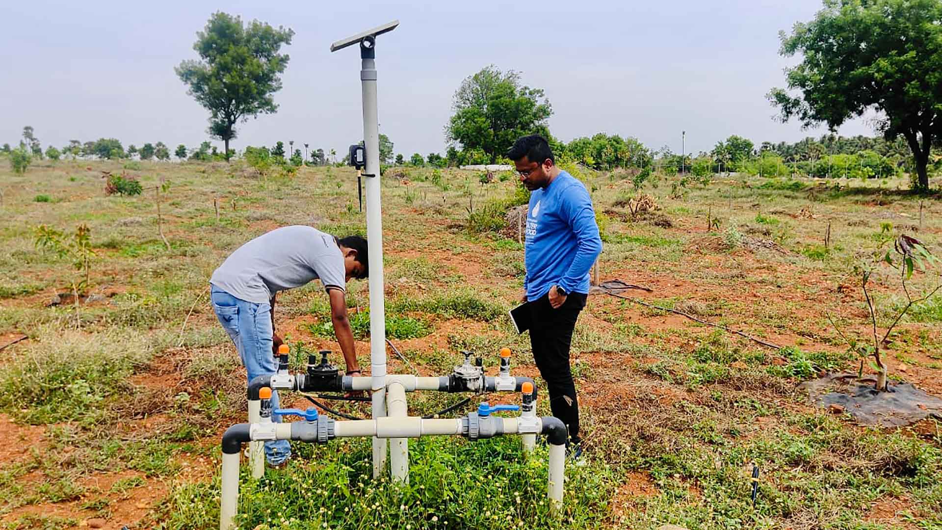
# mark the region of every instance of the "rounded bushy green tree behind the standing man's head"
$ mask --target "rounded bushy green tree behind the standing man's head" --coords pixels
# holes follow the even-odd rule
[[[521,86],[518,72],[503,73],[494,65],[464,79],[452,108],[446,140],[480,149],[492,164],[517,138],[548,135],[546,119],[553,114],[542,90]]]

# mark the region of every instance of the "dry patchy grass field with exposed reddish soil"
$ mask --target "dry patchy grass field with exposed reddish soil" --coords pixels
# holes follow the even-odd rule
[[[73,506],[62,508],[72,510],[72,522],[9,515],[0,528],[67,527],[119,513],[156,481],[171,483],[171,489],[138,527],[218,527],[219,477],[213,473],[219,432],[242,421],[246,409],[244,372],[206,304],[206,279],[235,248],[276,225],[365,234],[355,208],[356,179],[346,168],[301,168],[294,177],[263,180],[242,174],[238,162],[138,163],[146,185],[160,176],[173,183],[162,205],[170,251],[157,236],[150,197],[101,196],[97,172],[120,172],[122,162],[63,161],[55,170],[36,166],[25,175],[0,164],[7,190],[0,219],[0,333],[30,337],[0,352],[0,411],[15,422],[44,425],[33,427],[43,433],[34,450],[2,462],[0,513],[24,505],[42,510],[54,502]],[[525,194],[515,179],[482,186],[478,174],[456,170],[408,173],[408,186],[398,178],[382,180],[389,337],[408,340],[397,345],[424,374],[449,373],[461,363],[461,350],[482,356],[485,370],[495,373],[496,352],[507,346],[512,373],[536,376],[528,335],[513,333],[503,317],[519,295],[524,270],[523,246],[500,234],[507,207],[524,204]],[[634,193],[630,178],[620,174],[580,174],[597,210],[625,190]],[[400,489],[373,482],[368,440],[349,439],[296,444],[300,457],[261,481],[243,470],[242,526],[942,526],[937,436],[855,426],[814,411],[795,391],[822,371],[855,369],[856,359],[835,347],[833,334],[815,332],[821,307],[833,306],[840,322],[861,309],[853,292],[835,291],[842,268],[873,244],[881,223],[899,230],[915,224],[914,199],[884,193],[879,202],[885,206],[877,207],[870,200],[879,193],[869,188],[873,183],[812,193],[804,181],[730,178],[736,179],[732,188],[728,178],[691,183],[679,198],[671,198],[670,179],[645,184],[642,191],[674,227],[607,214],[602,278],[651,287],[655,292],[628,295],[795,347],[771,351],[662,311],[591,296],[572,340],[590,465],[567,468],[563,518],[549,518],[540,504],[544,450],[527,460],[512,437],[413,440],[411,485]],[[895,186],[891,181],[885,188]],[[466,208],[469,191],[474,216]],[[69,199],[55,208],[37,207],[38,194],[53,202]],[[219,221],[214,197],[222,206]],[[709,234],[707,208],[721,221],[719,231]],[[824,253],[817,245],[829,221],[833,240]],[[105,299],[45,307],[45,295],[65,285],[71,264],[38,252],[28,227],[77,223],[89,224],[98,254],[89,292]],[[937,245],[940,227],[935,216],[926,216],[920,240]],[[787,242],[778,236],[783,231]],[[755,250],[749,243],[756,238],[774,239],[784,251]],[[885,286],[879,287],[883,296]],[[367,289],[359,281],[348,288],[348,305],[360,308],[351,311],[351,323],[366,366]],[[918,367],[907,379],[930,389],[936,388],[934,371],[942,370],[934,351],[942,343],[942,309],[935,302],[913,309],[891,347],[894,362]],[[295,369],[306,362],[306,352],[336,350],[329,311],[317,285],[279,296],[276,322],[290,336]],[[390,354],[390,362],[391,372],[411,373],[398,356]],[[538,413],[547,415],[544,380],[536,380]],[[411,393],[410,411],[430,413],[460,397]],[[449,417],[479,401],[516,400],[471,397],[471,405]],[[364,405],[337,406],[368,415]],[[752,462],[761,470],[755,505],[747,472]],[[184,466],[202,473],[181,473]],[[89,486],[89,479],[106,472],[133,475],[106,491]],[[649,490],[629,493],[644,481]],[[901,503],[901,515],[889,522],[869,519],[872,505],[891,499]]]

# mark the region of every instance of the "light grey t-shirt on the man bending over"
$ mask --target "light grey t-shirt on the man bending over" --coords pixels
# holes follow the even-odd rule
[[[344,290],[347,270],[340,247],[330,234],[310,226],[283,226],[238,247],[209,283],[255,304],[267,303],[279,290],[320,279],[325,289]]]

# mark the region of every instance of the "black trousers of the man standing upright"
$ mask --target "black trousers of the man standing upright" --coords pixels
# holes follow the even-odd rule
[[[530,308],[530,346],[533,360],[549,389],[549,406],[569,428],[569,438],[579,442],[579,405],[576,383],[569,367],[569,346],[579,311],[586,306],[587,295],[571,292],[557,309],[549,305],[549,296],[528,304]]]

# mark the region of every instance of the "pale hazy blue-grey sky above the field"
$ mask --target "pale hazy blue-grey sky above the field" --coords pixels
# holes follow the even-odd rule
[[[773,120],[765,97],[798,60],[778,55],[778,32],[820,0],[33,0],[0,3],[0,143],[15,145],[27,124],[43,146],[208,140],[208,111],[173,67],[197,58],[196,32],[220,9],[295,31],[278,112],[239,124],[236,149],[295,141],[342,153],[359,141],[359,53],[329,46],[394,19],[377,44],[380,131],[406,158],[444,154],[452,95],[489,64],[545,91],[563,141],[602,131],[696,153],[732,134],[757,144],[826,132]],[[873,134],[867,120],[838,132]]]

